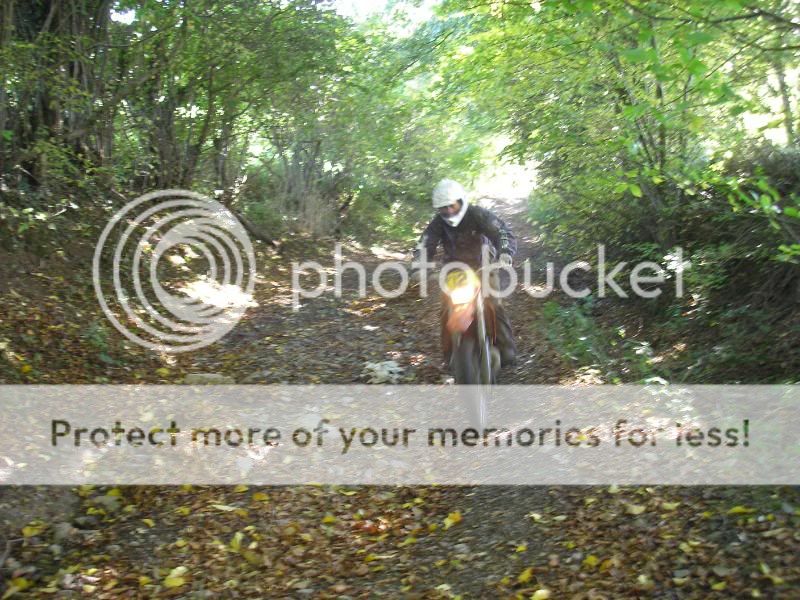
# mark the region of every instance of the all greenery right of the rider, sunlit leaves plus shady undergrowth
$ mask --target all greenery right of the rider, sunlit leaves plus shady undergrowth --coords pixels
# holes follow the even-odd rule
[[[636,310],[697,340],[704,366],[690,379],[741,377],[727,372],[736,361],[774,376],[797,356],[786,346],[773,369],[763,353],[800,298],[796,11],[679,4],[449,0],[440,18],[459,39],[440,89],[490,115],[482,123],[510,138],[508,156],[536,161],[529,216],[551,249],[590,259],[604,244],[632,263],[683,248],[687,295]],[[649,376],[644,347],[603,333],[587,307],[545,314],[576,364]],[[703,335],[709,327],[725,342]]]

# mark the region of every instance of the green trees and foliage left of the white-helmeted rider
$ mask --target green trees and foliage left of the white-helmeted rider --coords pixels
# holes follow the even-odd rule
[[[3,209],[14,238],[38,225],[23,208],[52,215],[70,196],[104,214],[108,188],[170,187],[222,190],[275,236],[328,235],[357,211],[405,238],[401,205],[480,168],[479,132],[432,102],[449,36],[436,22],[398,34],[313,0],[48,7],[2,30],[0,182],[25,192]]]

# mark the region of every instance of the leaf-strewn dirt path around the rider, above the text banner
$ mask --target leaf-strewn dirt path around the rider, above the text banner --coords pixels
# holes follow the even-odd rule
[[[537,251],[531,226],[525,220],[525,200],[492,200],[492,210],[516,233],[519,250],[515,265],[522,281],[522,264]],[[289,241],[281,256],[261,254],[257,306],[219,343],[200,353],[179,357],[184,372],[214,371],[238,383],[326,383],[359,381],[366,362],[394,360],[406,369],[406,383],[441,383],[447,377],[438,338],[438,294],[420,298],[413,290],[396,298],[383,298],[372,286],[372,272],[385,261],[407,260],[398,247],[362,247],[343,243],[342,260],[365,267],[367,294],[358,293],[355,271],[342,278],[341,297],[333,289],[317,298],[301,299],[295,310],[292,297],[293,261],[317,261],[331,271],[334,282],[334,244],[330,240]],[[387,289],[399,282],[387,274]],[[314,277],[303,280],[311,289]],[[517,291],[507,300],[519,349],[515,367],[504,369],[503,384],[559,383],[569,369],[549,349],[544,333],[535,326],[544,300]]]

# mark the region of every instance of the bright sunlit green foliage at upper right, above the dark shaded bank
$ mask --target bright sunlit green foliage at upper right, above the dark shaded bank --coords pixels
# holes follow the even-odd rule
[[[752,144],[741,115],[772,111],[767,76],[797,64],[788,49],[764,50],[780,48],[790,24],[743,16],[735,4],[684,4],[444,5],[452,29],[467,33],[442,61],[443,93],[490,114],[493,129],[512,136],[509,155],[538,162],[533,218],[572,254],[684,241],[692,205],[727,193],[711,169],[716,156]],[[741,185],[763,189],[740,201],[785,229],[796,197],[749,179]],[[789,259],[798,240],[776,242]]]

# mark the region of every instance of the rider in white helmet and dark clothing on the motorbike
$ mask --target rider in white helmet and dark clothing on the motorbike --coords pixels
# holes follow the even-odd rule
[[[467,191],[452,179],[442,179],[433,189],[433,207],[438,211],[425,228],[414,252],[414,260],[425,251],[426,260],[431,260],[436,247],[441,243],[444,262],[460,261],[478,268],[481,266],[482,248],[488,245],[490,257],[497,259],[504,267],[510,268],[512,257],[517,250],[517,241],[508,226],[492,212],[471,205]],[[499,258],[498,258],[499,255]],[[500,350],[501,364],[513,365],[517,349],[511,321],[499,298],[486,297],[495,309],[495,336]],[[446,311],[442,314],[442,346],[445,360],[450,357],[450,336],[444,328]]]

